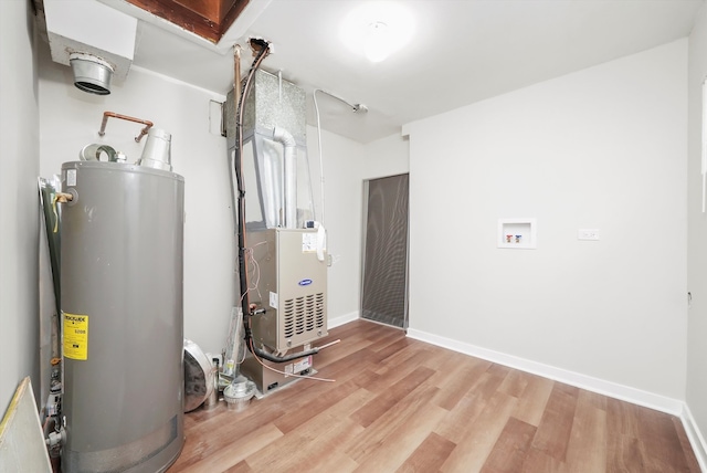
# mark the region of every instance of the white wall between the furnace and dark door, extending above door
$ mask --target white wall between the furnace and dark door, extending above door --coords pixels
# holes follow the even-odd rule
[[[315,208],[320,216],[317,128],[307,128]],[[325,227],[334,264],[328,273],[329,324],[360,313],[363,180],[408,172],[408,141],[399,135],[361,145],[321,132],[325,176]]]

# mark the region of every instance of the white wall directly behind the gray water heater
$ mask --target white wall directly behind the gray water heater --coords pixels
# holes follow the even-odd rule
[[[41,175],[61,171],[89,143],[105,143],[139,158],[146,138],[135,143],[141,125],[109,118],[106,111],[148,119],[172,134],[172,167],[184,177],[184,336],[207,351],[225,344],[234,299],[233,216],[225,138],[209,132],[209,102],[224,97],[133,67],[108,96],[73,85],[71,69],[51,61],[40,45]],[[147,202],[146,202],[147,204]],[[159,209],[155,209],[159,212]]]

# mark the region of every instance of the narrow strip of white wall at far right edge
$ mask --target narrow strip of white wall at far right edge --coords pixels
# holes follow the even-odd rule
[[[701,434],[703,466],[707,469],[707,213],[701,212],[700,145],[703,92],[707,76],[707,10],[703,8],[689,36],[689,160],[687,287],[693,295],[687,330],[687,406]]]

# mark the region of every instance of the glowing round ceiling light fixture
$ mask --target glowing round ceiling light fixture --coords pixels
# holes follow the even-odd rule
[[[412,14],[401,2],[366,2],[341,23],[339,36],[347,48],[371,62],[381,62],[404,46],[414,30]]]

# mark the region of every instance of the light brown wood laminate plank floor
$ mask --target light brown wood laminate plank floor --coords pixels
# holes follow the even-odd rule
[[[676,417],[367,320],[327,338],[315,368],[336,382],[186,414],[168,473],[699,472]]]

